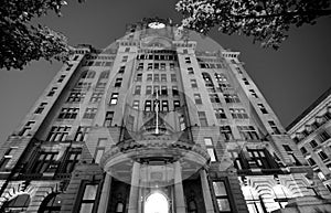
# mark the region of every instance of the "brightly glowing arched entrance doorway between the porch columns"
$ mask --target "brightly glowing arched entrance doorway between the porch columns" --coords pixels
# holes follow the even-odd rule
[[[168,213],[169,202],[160,192],[152,192],[145,201],[143,213]]]

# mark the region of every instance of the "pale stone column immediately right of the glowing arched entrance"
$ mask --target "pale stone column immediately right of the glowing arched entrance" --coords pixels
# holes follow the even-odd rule
[[[185,213],[184,190],[182,183],[182,169],[179,161],[174,162],[174,199],[175,212]]]

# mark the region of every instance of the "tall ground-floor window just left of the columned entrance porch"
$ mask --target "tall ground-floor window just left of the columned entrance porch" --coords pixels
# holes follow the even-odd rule
[[[97,184],[87,183],[84,185],[83,198],[81,200],[79,213],[92,213],[97,196]]]

